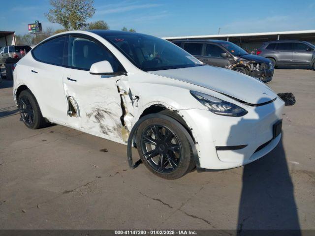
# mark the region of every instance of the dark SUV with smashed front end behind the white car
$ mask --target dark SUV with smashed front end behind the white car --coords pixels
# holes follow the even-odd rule
[[[202,62],[250,75],[267,83],[272,80],[274,68],[269,59],[248,54],[234,43],[223,40],[175,40]]]

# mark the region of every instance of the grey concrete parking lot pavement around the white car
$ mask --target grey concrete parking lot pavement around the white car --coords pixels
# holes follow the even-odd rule
[[[124,145],[28,129],[2,81],[0,228],[315,229],[315,71],[276,69],[268,85],[297,100],[277,148],[245,167],[165,180],[130,170]]]

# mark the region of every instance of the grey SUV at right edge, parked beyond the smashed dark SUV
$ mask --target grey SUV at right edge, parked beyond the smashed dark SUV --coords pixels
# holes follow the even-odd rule
[[[258,49],[257,55],[270,59],[274,66],[308,66],[315,69],[315,46],[306,41],[265,42]]]

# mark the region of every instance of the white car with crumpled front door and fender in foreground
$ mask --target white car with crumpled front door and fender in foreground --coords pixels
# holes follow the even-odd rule
[[[166,40],[69,31],[39,43],[14,70],[27,127],[65,125],[138,149],[159,177],[195,166],[248,164],[281,139],[284,102],[266,85],[200,62]]]

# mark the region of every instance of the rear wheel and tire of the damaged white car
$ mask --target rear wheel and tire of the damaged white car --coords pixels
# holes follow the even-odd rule
[[[28,128],[39,129],[48,125],[31,90],[26,89],[21,92],[18,99],[18,107],[21,118]]]

